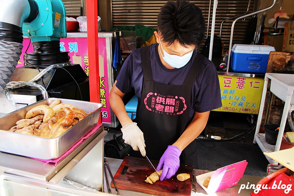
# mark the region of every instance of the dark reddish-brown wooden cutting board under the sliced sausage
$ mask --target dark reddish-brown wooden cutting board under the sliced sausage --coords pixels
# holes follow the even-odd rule
[[[155,160],[151,160],[151,163],[155,168],[158,165],[158,161]],[[128,170],[122,175],[123,170],[125,171],[127,167]],[[118,189],[159,196],[191,195],[193,165],[180,164],[176,174],[168,180],[157,180],[153,184],[145,182],[153,172],[153,168],[145,158],[125,157],[113,178]],[[183,182],[179,181],[177,175],[181,173],[190,174],[190,178]],[[113,182],[111,182],[111,187],[114,187]]]

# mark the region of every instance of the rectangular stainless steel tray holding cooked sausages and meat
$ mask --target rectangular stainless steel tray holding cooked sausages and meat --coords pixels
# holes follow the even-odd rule
[[[79,109],[83,109],[86,113],[92,113],[69,128],[58,138],[49,139],[6,131],[13,127],[16,121],[23,119],[31,108],[43,104],[50,105],[54,100],[56,98],[47,98],[1,116],[0,151],[44,160],[55,159],[63,155],[97,125],[100,111],[103,107],[102,103],[60,99],[61,103],[70,103]],[[102,129],[99,130],[101,131]]]

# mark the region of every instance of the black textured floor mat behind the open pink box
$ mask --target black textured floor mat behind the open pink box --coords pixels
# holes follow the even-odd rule
[[[257,144],[199,141],[197,153],[201,170],[214,171],[220,167],[247,160],[248,165],[244,175],[266,176],[268,160]]]

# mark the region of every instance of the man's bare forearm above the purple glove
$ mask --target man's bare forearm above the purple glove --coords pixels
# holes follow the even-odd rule
[[[207,124],[209,113],[210,111],[195,113],[191,123],[187,126],[180,138],[173,143],[173,145],[183,151],[203,131]]]

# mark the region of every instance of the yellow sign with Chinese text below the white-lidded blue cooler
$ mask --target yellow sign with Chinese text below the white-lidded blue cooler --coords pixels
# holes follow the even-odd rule
[[[218,75],[223,106],[214,111],[258,114],[264,78]]]

